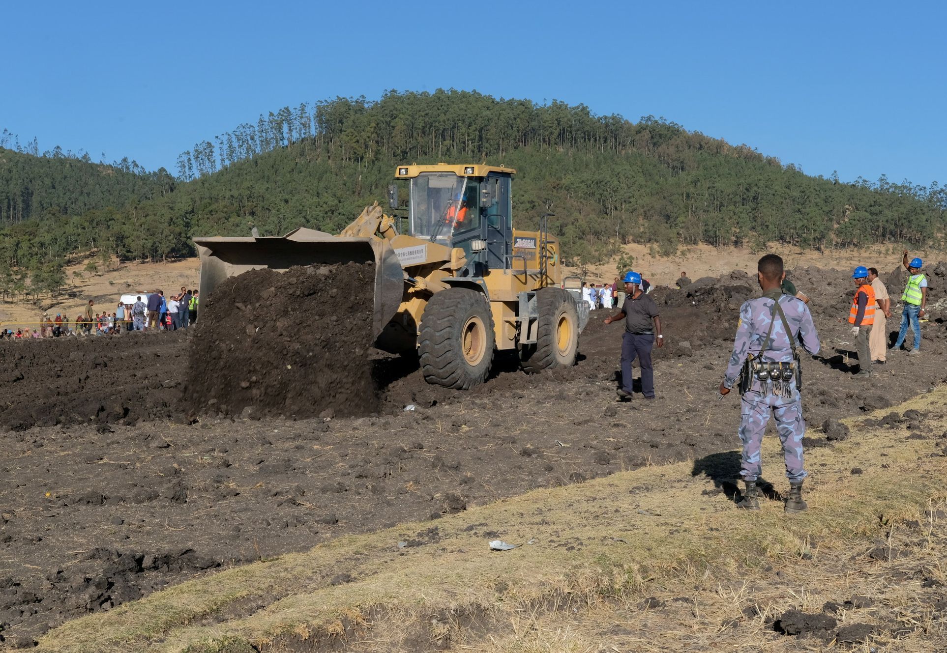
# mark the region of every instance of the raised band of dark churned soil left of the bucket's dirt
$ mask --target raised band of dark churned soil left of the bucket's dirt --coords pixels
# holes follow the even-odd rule
[[[0,344],[0,427],[177,416],[186,331]]]

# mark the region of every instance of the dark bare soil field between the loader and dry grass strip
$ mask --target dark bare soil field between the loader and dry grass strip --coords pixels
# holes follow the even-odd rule
[[[931,278],[923,355],[893,354],[867,381],[849,368],[849,273],[793,278],[813,298],[824,349],[804,361],[811,426],[944,378],[942,275]],[[716,388],[754,284],[734,273],[654,291],[667,345],[655,350],[650,402],[616,402],[622,327],[604,326],[605,311],[593,312],[575,367],[526,376],[501,361],[469,392],[426,385],[417,363],[379,356],[377,412],[346,418],[190,423],[181,386],[195,355],[188,338],[202,324],[188,334],[0,344],[0,425],[11,429],[0,433],[0,637],[29,644],[65,619],[207,570],[738,447],[739,398],[720,401]],[[901,285],[889,286],[893,297]],[[811,445],[825,439],[810,435]]]

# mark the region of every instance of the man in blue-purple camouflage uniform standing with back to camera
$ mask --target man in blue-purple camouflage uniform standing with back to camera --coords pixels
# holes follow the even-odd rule
[[[800,337],[803,347],[810,354],[815,355],[819,351],[819,339],[809,308],[780,289],[785,277],[782,258],[775,254],[763,256],[759,259],[757,269],[763,296],[744,302],[740,309],[733,355],[726,368],[724,381],[720,384],[721,395],[730,392],[747,356],[753,356],[763,365],[782,362],[783,367],[788,368],[794,360],[794,344]],[[775,302],[778,302],[781,316]],[[786,333],[783,317],[788,323],[789,334]],[[740,440],[743,444],[740,475],[746,483],[746,492],[737,505],[759,510],[756,485],[762,473],[759,448],[772,412],[776,417],[777,432],[786,457],[786,476],[790,483],[790,496],[785,510],[789,513],[802,512],[808,507],[802,500],[802,481],[807,475],[802,461],[802,436],[806,431],[806,423],[802,419],[802,400],[796,388],[795,374],[790,376],[787,369],[785,376],[769,380],[760,380],[753,375],[748,389],[746,386],[744,389],[740,422]]]

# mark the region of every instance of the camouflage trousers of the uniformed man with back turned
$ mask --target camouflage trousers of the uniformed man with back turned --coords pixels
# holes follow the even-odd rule
[[[740,416],[740,441],[743,443],[740,476],[744,481],[756,481],[762,473],[759,449],[763,433],[769,423],[770,413],[776,417],[776,428],[782,451],[786,456],[786,476],[792,481],[806,478],[802,461],[802,436],[806,434],[806,423],[802,419],[802,397],[795,389],[795,380],[790,397],[777,397],[759,392],[759,381],[742,397]]]

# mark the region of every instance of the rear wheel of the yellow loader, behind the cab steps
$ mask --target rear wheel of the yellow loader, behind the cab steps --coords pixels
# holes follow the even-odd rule
[[[539,331],[536,344],[520,347],[520,364],[534,374],[550,367],[571,367],[579,354],[579,310],[572,295],[559,288],[536,291]]]

